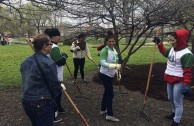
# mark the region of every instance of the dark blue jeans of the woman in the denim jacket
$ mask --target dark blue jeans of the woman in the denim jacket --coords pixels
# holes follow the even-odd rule
[[[54,106],[52,100],[26,101],[23,99],[22,105],[32,126],[53,126]]]

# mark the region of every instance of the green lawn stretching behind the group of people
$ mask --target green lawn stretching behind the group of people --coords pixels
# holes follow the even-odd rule
[[[99,64],[96,48],[91,48],[90,52],[93,61]],[[73,74],[73,59],[70,46],[60,46],[62,52],[68,54],[67,65]],[[128,64],[150,64],[154,46],[143,46],[139,51],[132,55]],[[127,52],[126,52],[127,53]],[[0,87],[21,86],[20,64],[33,54],[29,45],[12,44],[11,46],[0,46]],[[126,54],[123,54],[126,55]],[[166,59],[156,49],[155,62],[166,62]],[[97,70],[97,66],[86,58],[85,73],[90,74]],[[64,66],[64,80],[71,76],[66,66]]]

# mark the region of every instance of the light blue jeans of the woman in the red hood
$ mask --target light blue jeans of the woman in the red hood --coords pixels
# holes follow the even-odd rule
[[[171,104],[172,111],[175,113],[174,121],[180,123],[183,114],[183,94],[181,92],[183,83],[168,84],[168,100]]]

